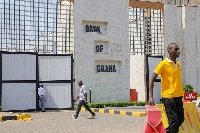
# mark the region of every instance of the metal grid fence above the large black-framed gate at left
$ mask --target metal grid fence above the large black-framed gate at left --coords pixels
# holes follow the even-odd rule
[[[0,1],[0,50],[73,53],[73,4],[57,0]]]

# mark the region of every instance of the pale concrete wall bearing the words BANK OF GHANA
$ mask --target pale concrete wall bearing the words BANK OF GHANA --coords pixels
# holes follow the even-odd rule
[[[74,1],[76,95],[82,80],[92,102],[129,101],[128,8],[128,0]],[[86,25],[100,26],[101,33],[87,32]],[[106,50],[97,52],[98,43]],[[97,65],[115,65],[116,72],[98,72]]]

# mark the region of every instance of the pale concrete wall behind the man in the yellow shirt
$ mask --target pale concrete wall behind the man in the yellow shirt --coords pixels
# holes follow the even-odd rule
[[[179,45],[183,69],[183,85],[191,84],[200,93],[200,7],[176,7],[165,4],[165,46]],[[165,52],[167,55],[167,52]]]

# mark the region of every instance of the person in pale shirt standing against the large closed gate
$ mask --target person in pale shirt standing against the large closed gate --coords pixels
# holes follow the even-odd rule
[[[46,102],[45,94],[46,90],[43,88],[43,85],[40,85],[40,87],[38,88],[38,95],[41,102],[42,112],[45,112],[45,102]]]

